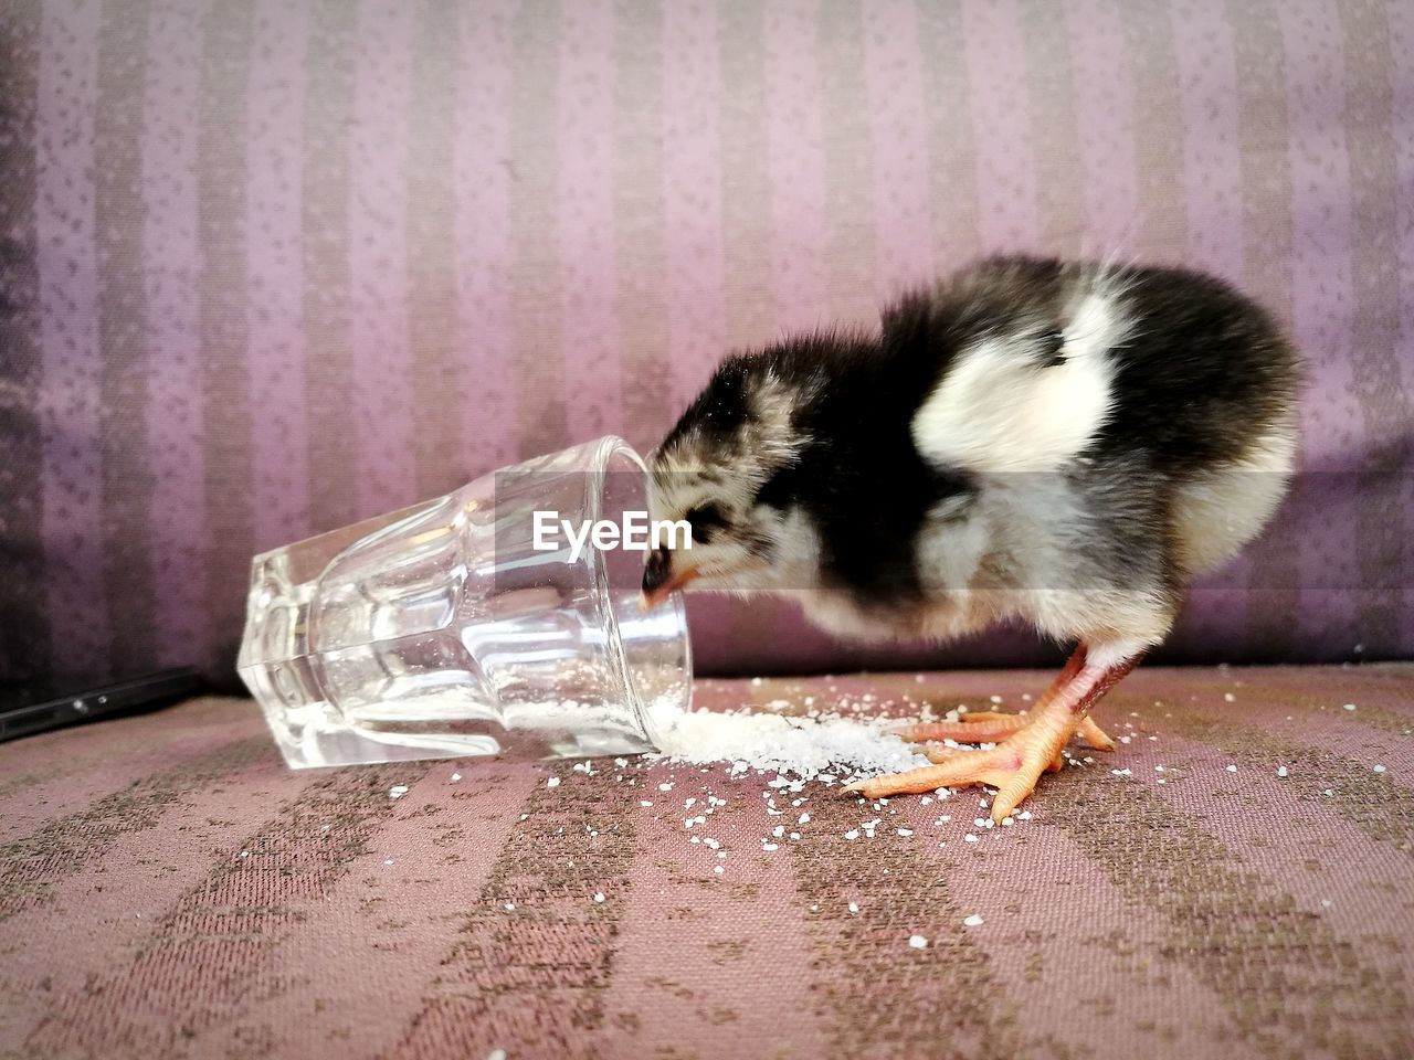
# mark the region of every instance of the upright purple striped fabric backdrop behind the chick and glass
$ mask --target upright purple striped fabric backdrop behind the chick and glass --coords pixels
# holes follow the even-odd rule
[[[0,99],[3,676],[229,678],[257,550],[650,445],[1003,250],[1213,270],[1312,360],[1332,473],[1169,659],[1414,646],[1408,3],[10,0]],[[717,670],[1044,657],[694,618]]]

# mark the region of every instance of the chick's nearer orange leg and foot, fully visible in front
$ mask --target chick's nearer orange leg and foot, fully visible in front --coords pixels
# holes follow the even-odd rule
[[[1025,725],[995,748],[930,750],[929,758],[942,759],[939,765],[871,777],[850,784],[846,790],[858,791],[870,799],[882,799],[905,791],[932,791],[936,787],[987,784],[997,789],[997,797],[991,803],[991,817],[994,821],[1001,821],[1035,790],[1041,773],[1060,767],[1060,750],[1070,742],[1070,736],[1090,708],[1133,670],[1138,660],[1138,652],[1123,654],[1114,650],[1090,652],[1082,646],[1076,649],[1066,667],[1075,669],[1070,680],[1049,701],[1038,702],[1027,715]]]

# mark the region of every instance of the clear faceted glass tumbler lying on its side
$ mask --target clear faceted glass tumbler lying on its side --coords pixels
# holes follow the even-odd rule
[[[653,749],[690,708],[682,601],[645,612],[642,551],[534,516],[622,526],[645,486],[601,438],[257,555],[238,669],[284,760]]]

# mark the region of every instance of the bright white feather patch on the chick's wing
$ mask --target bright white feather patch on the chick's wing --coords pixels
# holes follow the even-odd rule
[[[1092,291],[1070,315],[1062,365],[1042,367],[1029,336],[978,342],[913,414],[913,445],[939,466],[1012,472],[1065,465],[1110,414],[1109,351],[1126,328],[1113,295]]]

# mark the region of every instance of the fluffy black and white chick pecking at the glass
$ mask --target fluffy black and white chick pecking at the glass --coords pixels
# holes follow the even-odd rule
[[[1181,269],[998,257],[875,334],[727,359],[650,465],[652,605],[691,587],[793,596],[817,625],[942,639],[1021,619],[1077,644],[1025,717],[913,725],[935,763],[868,797],[983,783],[1001,821],[1258,534],[1297,448],[1299,359],[1247,297]],[[995,742],[970,750],[930,741]]]

